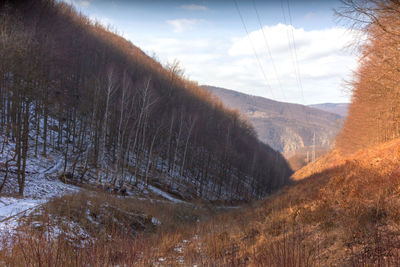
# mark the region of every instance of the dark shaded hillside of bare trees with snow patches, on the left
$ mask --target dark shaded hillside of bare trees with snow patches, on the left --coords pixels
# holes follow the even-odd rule
[[[206,199],[262,197],[288,182],[281,155],[179,66],[65,3],[8,1],[0,12],[0,132],[3,147],[15,143],[7,168],[21,195],[27,157],[52,150],[64,155],[63,179],[141,181]]]

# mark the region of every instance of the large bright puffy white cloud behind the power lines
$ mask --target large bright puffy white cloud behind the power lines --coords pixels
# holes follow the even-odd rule
[[[261,29],[251,32],[249,36],[234,39],[229,49],[229,55],[250,59],[252,63],[249,63],[248,71],[252,70],[257,77],[262,78],[262,71],[255,59],[254,47],[261,59],[272,89],[275,92],[280,91],[280,80],[282,88],[287,91],[286,97],[282,96],[283,99],[280,98],[280,100],[303,101],[300,101],[301,90],[295,75],[294,62],[296,62],[296,58],[305,102],[318,102],[321,98],[319,96],[326,97],[327,95],[331,95],[332,101],[348,98],[341,93],[341,86],[343,79],[348,78],[351,71],[356,68],[357,57],[346,50],[345,47],[354,40],[355,32],[350,32],[341,27],[306,31],[303,28],[294,28],[283,24],[265,26],[263,30],[276,65],[278,77],[271,63]],[[288,40],[292,40],[292,33],[297,53],[289,46]],[[256,81],[258,81],[258,87],[260,87],[261,79],[254,77],[254,82]],[[264,83],[266,83],[265,80]],[[279,94],[276,93],[276,95]]]

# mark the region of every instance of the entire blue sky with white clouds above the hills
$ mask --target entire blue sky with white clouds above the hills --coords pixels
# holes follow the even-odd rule
[[[357,34],[338,0],[64,0],[185,76],[278,101],[349,102]]]

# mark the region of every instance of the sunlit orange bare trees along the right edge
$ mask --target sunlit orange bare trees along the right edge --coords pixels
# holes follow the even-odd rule
[[[362,33],[360,67],[354,73],[352,105],[338,148],[351,152],[400,136],[400,4],[345,1],[339,10]]]

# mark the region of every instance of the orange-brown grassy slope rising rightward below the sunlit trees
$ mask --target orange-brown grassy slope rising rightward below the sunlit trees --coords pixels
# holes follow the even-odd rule
[[[333,151],[265,200],[187,229],[185,262],[398,266],[399,166],[400,139],[347,156]]]

